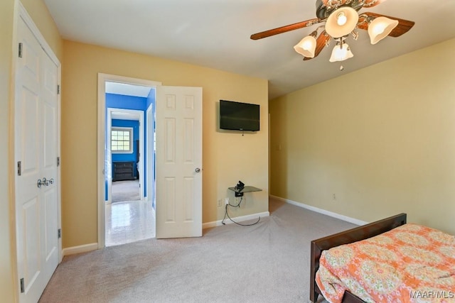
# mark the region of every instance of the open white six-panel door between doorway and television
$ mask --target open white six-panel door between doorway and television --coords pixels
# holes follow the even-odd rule
[[[156,238],[202,236],[202,88],[156,87]]]

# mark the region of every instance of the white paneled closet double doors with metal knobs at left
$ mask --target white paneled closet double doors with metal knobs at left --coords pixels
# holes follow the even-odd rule
[[[19,300],[38,302],[59,261],[58,66],[22,19],[18,42],[22,54],[16,65],[14,149]]]

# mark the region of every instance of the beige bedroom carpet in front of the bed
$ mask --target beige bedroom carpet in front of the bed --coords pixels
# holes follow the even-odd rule
[[[283,202],[254,226],[63,259],[40,302],[308,302],[310,241],[354,225]]]

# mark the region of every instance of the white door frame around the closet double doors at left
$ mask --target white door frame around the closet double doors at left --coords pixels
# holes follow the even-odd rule
[[[56,144],[57,144],[57,150],[56,150],[56,155],[59,159],[61,159],[61,79],[62,79],[62,65],[60,64],[60,60],[58,60],[58,57],[55,55],[53,52],[53,49],[50,47],[48,42],[45,40],[44,36],[41,34],[40,30],[36,26],[36,24],[33,21],[33,18],[28,14],[27,10],[21,3],[21,1],[16,1],[15,9],[14,9],[14,33],[13,33],[13,54],[17,54],[17,48],[16,46],[18,45],[18,33],[17,33],[17,28],[19,26],[19,22],[22,20],[26,26],[30,29],[30,31],[33,33],[33,35],[36,37],[38,40],[38,43],[40,43],[41,48],[45,52],[46,55],[50,58],[50,60],[57,66],[57,77],[58,77],[58,88],[56,87],[55,89],[59,89],[59,92],[57,94],[57,119],[56,119],[56,127],[57,127],[57,139],[56,139]],[[10,145],[10,158],[11,158],[11,165],[13,169],[11,169],[11,178],[10,178],[10,184],[11,187],[9,187],[9,192],[10,192],[10,197],[11,197],[11,203],[13,203],[13,214],[14,214],[14,222],[16,222],[17,218],[17,213],[16,213],[16,140],[17,140],[17,135],[16,135],[16,121],[14,119],[15,114],[16,114],[16,62],[17,62],[17,57],[16,55],[13,55],[13,59],[11,62],[11,71],[14,73],[12,74],[11,77],[11,87],[14,87],[12,90],[13,94],[13,101],[11,103],[11,109],[10,109],[10,127],[11,127],[11,145]],[[55,159],[57,160],[57,159]],[[62,228],[62,204],[61,204],[61,169],[60,165],[57,165],[57,177],[58,177],[58,182],[56,182],[56,190],[57,190],[57,224],[58,224],[58,229],[61,231]],[[17,241],[18,241],[18,235],[17,235],[18,228],[17,226],[14,226],[11,228],[11,235],[15,239],[14,243],[14,252],[15,255],[15,260],[14,264],[11,265],[13,268],[14,272],[14,286],[16,289],[16,298],[19,299],[21,297],[21,290],[19,287],[19,281],[18,281],[18,251],[17,251]],[[60,264],[63,260],[63,252],[62,252],[62,238],[58,238],[58,263]],[[20,300],[19,300],[20,301]]]

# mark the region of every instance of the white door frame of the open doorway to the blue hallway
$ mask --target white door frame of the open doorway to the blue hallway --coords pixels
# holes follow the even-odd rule
[[[105,214],[105,136],[106,136],[106,82],[119,82],[133,85],[154,87],[161,82],[98,73],[98,131],[97,131],[97,209],[98,209],[98,249],[106,246],[106,214]],[[143,175],[143,174],[142,174]]]

